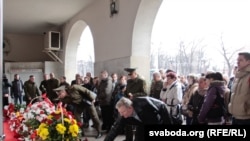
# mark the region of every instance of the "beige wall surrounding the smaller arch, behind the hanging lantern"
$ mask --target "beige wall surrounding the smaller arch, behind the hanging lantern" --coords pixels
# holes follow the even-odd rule
[[[113,17],[110,17],[109,2],[95,2],[68,21],[63,28],[64,45],[69,45],[65,46],[64,50],[70,48],[72,51],[76,48],[72,47],[68,40],[70,31],[74,30],[72,27],[79,21],[84,21],[90,27],[95,48],[95,75],[99,75],[102,70],[124,73],[123,68],[130,67],[134,21],[140,0],[120,0],[119,13]],[[65,54],[67,53],[66,50]],[[71,60],[65,59],[65,69],[72,68],[69,67]],[[67,76],[74,78],[72,71],[65,72]]]

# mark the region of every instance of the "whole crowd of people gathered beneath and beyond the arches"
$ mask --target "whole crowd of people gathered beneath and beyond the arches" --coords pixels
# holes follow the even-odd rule
[[[106,131],[105,141],[113,141],[118,134],[125,134],[125,141],[144,140],[143,125],[174,124],[173,117],[178,112],[185,119],[183,125],[250,124],[249,52],[238,54],[231,78],[221,72],[182,76],[162,69],[152,74],[148,92],[146,81],[136,68],[124,70],[128,75],[105,70],[98,77],[89,72],[85,76],[76,74],[71,83],[65,76],[57,79],[54,73],[44,74],[39,86],[33,75],[22,82],[15,74],[11,83],[4,77],[3,104],[8,105],[5,97],[9,94],[15,104],[22,104],[23,93],[26,103],[39,93],[46,93],[53,103],[62,101],[83,123],[82,128],[88,128],[92,120],[96,138]]]

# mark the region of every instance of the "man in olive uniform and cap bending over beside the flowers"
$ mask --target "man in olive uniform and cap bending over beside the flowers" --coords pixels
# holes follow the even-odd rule
[[[54,91],[58,95],[58,99],[64,104],[70,104],[74,108],[73,114],[78,122],[82,123],[81,114],[84,111],[84,108],[89,111],[91,119],[94,123],[94,128],[97,130],[96,138],[100,138],[101,134],[101,123],[96,112],[94,102],[96,94],[92,91],[82,87],[81,85],[72,85],[68,88],[65,85],[62,85]],[[82,128],[82,135],[84,136],[84,131]]]

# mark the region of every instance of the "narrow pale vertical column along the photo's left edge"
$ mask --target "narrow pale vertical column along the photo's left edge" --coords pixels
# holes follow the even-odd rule
[[[0,79],[3,78],[3,0],[0,0]],[[0,81],[0,140],[4,140],[5,135],[3,131],[3,81]]]

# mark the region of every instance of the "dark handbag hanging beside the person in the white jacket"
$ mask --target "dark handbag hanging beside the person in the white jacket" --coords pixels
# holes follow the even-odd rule
[[[171,106],[175,106],[175,105],[173,105],[173,101],[174,101],[174,99],[171,100]],[[176,105],[176,111],[177,111],[177,114],[172,115],[172,107],[170,107],[170,116],[172,117],[173,124],[182,125],[183,117],[181,114],[181,104]]]

